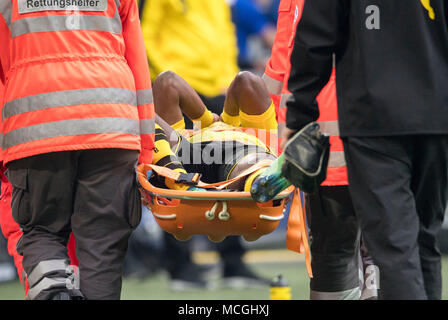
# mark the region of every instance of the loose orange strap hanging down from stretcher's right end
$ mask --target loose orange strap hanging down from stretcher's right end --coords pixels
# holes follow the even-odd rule
[[[303,210],[302,207],[300,191],[296,189],[289,210],[288,226],[286,230],[286,247],[291,251],[305,254],[306,270],[308,276],[312,278],[311,253],[305,221],[305,210]]]

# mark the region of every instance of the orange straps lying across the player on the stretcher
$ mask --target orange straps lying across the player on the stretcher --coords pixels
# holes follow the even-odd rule
[[[254,164],[252,167],[248,168],[247,170],[243,171],[235,178],[232,178],[229,180],[220,181],[220,182],[216,182],[216,183],[205,183],[205,182],[202,182],[201,180],[199,180],[199,175],[197,175],[197,176],[195,176],[195,177],[197,177],[197,178],[195,178],[196,180],[193,182],[194,182],[195,186],[200,187],[200,188],[210,188],[210,189],[221,190],[221,189],[224,189],[225,187],[229,186],[230,184],[234,183],[235,181],[243,179],[243,178],[247,177],[248,175],[250,175],[251,173],[253,173],[261,168],[269,167],[269,165],[272,163],[272,161],[273,160],[262,160],[256,164]],[[152,169],[159,176],[165,177],[174,182],[179,181],[179,179],[181,177],[180,172],[171,170],[166,167],[160,167],[160,166],[156,166],[153,164],[147,164],[145,166],[146,166],[145,169],[147,169],[147,171]]]

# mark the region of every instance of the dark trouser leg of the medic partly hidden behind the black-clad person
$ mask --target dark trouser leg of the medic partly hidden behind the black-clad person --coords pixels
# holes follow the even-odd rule
[[[312,295],[316,299],[342,299],[358,294],[354,298],[359,298],[360,228],[348,186],[320,187],[315,194],[307,194],[305,201]]]

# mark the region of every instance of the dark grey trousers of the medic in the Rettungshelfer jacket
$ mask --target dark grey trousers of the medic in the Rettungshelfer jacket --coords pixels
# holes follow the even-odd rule
[[[94,149],[42,154],[8,165],[12,213],[23,230],[17,249],[28,277],[42,261],[68,260],[73,231],[83,295],[120,298],[128,238],[141,218],[137,159],[138,151]],[[52,265],[44,264],[42,271]]]

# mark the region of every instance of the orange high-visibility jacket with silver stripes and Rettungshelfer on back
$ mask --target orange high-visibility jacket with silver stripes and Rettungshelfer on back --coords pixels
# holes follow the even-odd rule
[[[151,163],[154,106],[135,0],[2,0],[0,42],[4,163],[97,148],[140,150]]]

